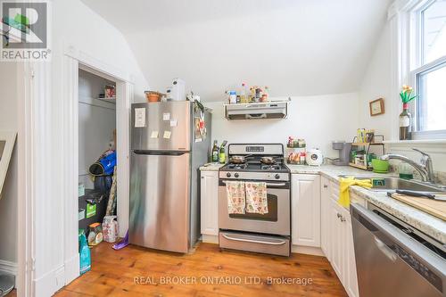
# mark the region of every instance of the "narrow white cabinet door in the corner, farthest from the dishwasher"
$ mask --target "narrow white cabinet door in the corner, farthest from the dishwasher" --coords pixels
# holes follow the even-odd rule
[[[320,179],[320,247],[331,260],[330,247],[330,181],[326,177]]]

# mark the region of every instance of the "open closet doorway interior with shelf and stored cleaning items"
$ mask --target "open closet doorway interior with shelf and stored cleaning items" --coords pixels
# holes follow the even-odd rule
[[[116,81],[78,71],[78,232],[88,243],[101,235],[93,227],[116,216],[116,100]]]

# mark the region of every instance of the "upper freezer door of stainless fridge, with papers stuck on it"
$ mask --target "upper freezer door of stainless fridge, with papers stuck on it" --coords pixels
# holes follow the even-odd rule
[[[132,104],[132,151],[190,151],[191,103]]]

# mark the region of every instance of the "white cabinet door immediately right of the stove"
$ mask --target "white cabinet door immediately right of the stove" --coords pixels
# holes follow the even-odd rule
[[[292,176],[292,242],[320,247],[320,177]]]

